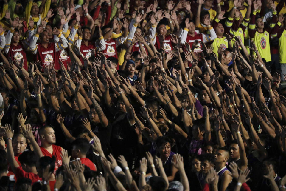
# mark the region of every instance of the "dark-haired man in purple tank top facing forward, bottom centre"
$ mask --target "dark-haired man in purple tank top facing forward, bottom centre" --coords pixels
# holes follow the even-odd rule
[[[178,169],[172,164],[172,162],[176,162],[175,153],[171,151],[172,141],[170,138],[163,136],[157,139],[156,144],[168,181],[173,181]]]

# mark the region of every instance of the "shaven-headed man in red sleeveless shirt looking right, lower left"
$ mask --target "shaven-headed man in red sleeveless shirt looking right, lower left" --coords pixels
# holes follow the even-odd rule
[[[54,174],[57,171],[57,169],[62,166],[62,158],[60,156],[63,148],[59,147],[57,145],[54,145],[56,143],[56,136],[55,131],[50,126],[43,126],[39,129],[39,135],[41,139],[41,151],[43,153],[43,156],[49,156],[52,158],[52,156],[56,157],[55,161],[55,170]]]

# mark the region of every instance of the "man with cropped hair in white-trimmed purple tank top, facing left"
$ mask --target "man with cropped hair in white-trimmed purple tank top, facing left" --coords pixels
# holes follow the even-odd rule
[[[229,159],[229,151],[226,148],[218,148],[215,153],[215,170],[219,176],[218,190],[225,191],[229,183],[232,181],[230,171],[226,167],[226,162]]]

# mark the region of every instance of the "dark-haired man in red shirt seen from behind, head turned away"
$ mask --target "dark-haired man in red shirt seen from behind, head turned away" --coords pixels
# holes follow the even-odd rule
[[[96,166],[91,160],[86,158],[86,153],[90,148],[89,141],[86,138],[78,138],[71,143],[71,157],[80,159],[81,163],[96,171]]]

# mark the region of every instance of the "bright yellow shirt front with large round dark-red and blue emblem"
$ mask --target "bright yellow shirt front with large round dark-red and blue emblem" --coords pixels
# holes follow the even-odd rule
[[[264,31],[263,33],[255,32],[253,39],[257,50],[262,58],[266,60],[266,62],[271,61],[270,55],[270,45],[269,45],[269,33]]]

